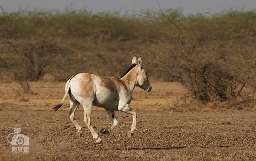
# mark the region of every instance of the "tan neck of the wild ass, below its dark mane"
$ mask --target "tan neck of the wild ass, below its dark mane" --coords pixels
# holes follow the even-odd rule
[[[130,92],[134,90],[136,84],[137,84],[137,77],[138,77],[138,69],[134,67],[132,70],[130,70],[124,77],[122,77],[120,80],[124,82],[124,84],[128,87]]]

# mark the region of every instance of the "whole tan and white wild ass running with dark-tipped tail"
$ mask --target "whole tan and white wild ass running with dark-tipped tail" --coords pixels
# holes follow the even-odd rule
[[[75,119],[76,109],[80,104],[84,108],[84,122],[88,126],[92,137],[96,143],[101,141],[98,134],[94,131],[91,122],[92,105],[104,108],[109,117],[112,119],[112,126],[110,128],[102,128],[100,130],[103,134],[110,133],[114,127],[117,126],[117,119],[114,111],[122,111],[132,115],[132,126],[128,132],[128,137],[131,138],[136,129],[137,113],[130,108],[132,100],[132,91],[135,86],[144,89],[145,92],[150,92],[152,84],[147,78],[147,71],[142,67],[141,57],[133,57],[132,66],[120,78],[102,77],[88,73],[78,73],[73,75],[65,86],[65,95],[61,102],[53,108],[57,111],[63,104],[64,99],[68,96],[70,100],[70,109],[68,110],[68,117],[76,126],[78,132],[81,131],[82,126],[78,124]]]

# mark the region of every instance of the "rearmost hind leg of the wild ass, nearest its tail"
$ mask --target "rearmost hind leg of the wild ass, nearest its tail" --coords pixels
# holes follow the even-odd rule
[[[68,99],[70,101],[70,109],[68,110],[68,117],[73,122],[73,124],[76,126],[76,129],[78,131],[82,130],[82,126],[77,122],[75,118],[75,112],[80,103],[72,96],[71,92],[68,92]]]

